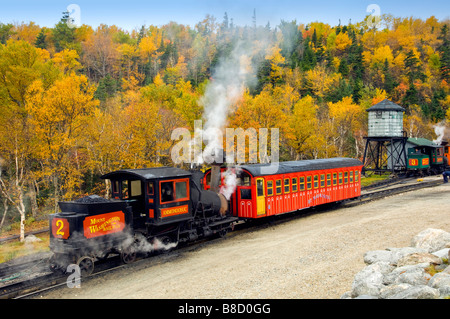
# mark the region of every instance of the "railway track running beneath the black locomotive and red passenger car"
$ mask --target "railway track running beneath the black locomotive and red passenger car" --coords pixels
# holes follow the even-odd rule
[[[384,185],[376,185],[370,188],[363,188],[361,196],[346,200],[340,203],[344,207],[352,207],[362,205],[373,200],[401,194],[421,188],[435,187],[443,183],[441,178],[434,178],[428,180],[422,179],[408,179],[408,180],[395,180],[391,183],[384,183]],[[330,205],[324,205],[323,207],[310,208],[303,213],[288,213],[281,216],[273,216],[269,218],[265,223],[252,222],[252,223],[238,223],[235,226],[235,231],[229,234],[229,236],[238,236],[242,231],[255,231],[260,227],[267,227],[267,225],[276,225],[278,223],[289,222],[295,218],[304,218],[305,216],[314,214],[317,210],[330,210],[334,207]],[[220,239],[219,239],[220,240]],[[171,254],[179,255],[187,252],[189,249],[197,249],[201,245],[206,243],[213,243],[208,239],[203,239],[190,244],[185,244],[182,247],[176,249]],[[167,258],[160,255],[153,256],[153,258]],[[145,258],[141,258],[145,259]],[[169,256],[170,259],[170,256]],[[138,260],[139,261],[139,260]],[[54,274],[49,270],[38,267],[38,265],[45,264],[45,260],[41,261],[29,261],[20,265],[15,265],[11,268],[0,268],[0,299],[13,299],[13,298],[27,298],[36,295],[42,291],[54,289],[59,286],[67,284],[69,274]],[[111,272],[123,267],[134,267],[133,264],[123,264],[118,256],[110,257],[105,261],[96,262],[95,271],[90,277],[95,277],[106,272]],[[88,278],[82,278],[82,280],[88,280]]]

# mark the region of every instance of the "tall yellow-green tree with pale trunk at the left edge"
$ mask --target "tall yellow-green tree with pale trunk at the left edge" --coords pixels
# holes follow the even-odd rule
[[[2,197],[20,214],[21,241],[25,233],[25,192],[33,162],[26,93],[43,77],[48,57],[48,52],[25,41],[10,39],[0,45],[0,189]]]

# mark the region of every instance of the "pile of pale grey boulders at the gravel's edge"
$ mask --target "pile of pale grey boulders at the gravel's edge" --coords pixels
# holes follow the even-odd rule
[[[450,233],[429,228],[410,247],[369,251],[341,299],[450,298],[449,250]]]

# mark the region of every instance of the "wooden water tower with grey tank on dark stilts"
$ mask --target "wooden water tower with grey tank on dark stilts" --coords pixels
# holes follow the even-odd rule
[[[406,171],[406,133],[403,131],[405,109],[384,100],[367,110],[369,132],[364,150],[365,171],[399,173]]]

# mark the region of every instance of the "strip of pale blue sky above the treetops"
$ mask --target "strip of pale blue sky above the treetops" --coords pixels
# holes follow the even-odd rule
[[[79,7],[79,22],[92,27],[115,24],[125,30],[140,29],[142,25],[161,26],[171,21],[195,26],[207,14],[221,23],[225,12],[240,26],[252,25],[256,12],[257,25],[272,27],[281,20],[297,23],[320,21],[336,26],[356,23],[373,13],[368,6],[376,4],[381,14],[396,17],[439,20],[450,18],[448,0],[0,0],[1,23],[35,22],[53,27],[67,7]],[[75,14],[75,12],[72,12]]]

